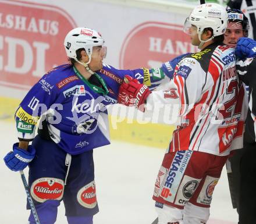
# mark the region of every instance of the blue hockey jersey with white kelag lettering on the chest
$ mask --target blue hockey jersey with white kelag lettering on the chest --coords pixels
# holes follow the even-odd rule
[[[42,129],[42,121],[46,120],[51,140],[69,154],[109,144],[106,106],[117,102],[119,86],[126,74],[151,90],[167,78],[162,69],[118,70],[109,65],[104,65],[89,80],[72,65],[50,70],[17,108],[19,140],[33,140],[36,126]]]

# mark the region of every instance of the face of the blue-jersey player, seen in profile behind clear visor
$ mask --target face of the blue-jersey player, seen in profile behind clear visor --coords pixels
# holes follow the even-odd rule
[[[93,54],[91,54],[90,69],[95,72],[102,69],[102,60],[106,55],[106,47],[93,47]]]

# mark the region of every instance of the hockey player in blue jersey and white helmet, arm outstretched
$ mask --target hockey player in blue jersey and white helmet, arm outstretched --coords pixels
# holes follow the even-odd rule
[[[4,161],[14,171],[29,164],[30,193],[41,224],[55,223],[62,200],[69,224],[91,224],[98,212],[93,149],[110,143],[106,106],[117,102],[126,74],[152,90],[172,77],[181,58],[159,69],[104,66],[104,39],[83,27],[71,30],[64,45],[70,63],[50,70],[24,97],[15,113],[19,143]],[[35,223],[32,213],[29,222]]]

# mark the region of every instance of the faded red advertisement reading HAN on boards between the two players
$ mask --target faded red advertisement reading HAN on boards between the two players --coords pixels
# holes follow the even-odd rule
[[[147,22],[136,26],[125,38],[120,53],[120,68],[155,67],[181,54],[195,52],[183,26]]]

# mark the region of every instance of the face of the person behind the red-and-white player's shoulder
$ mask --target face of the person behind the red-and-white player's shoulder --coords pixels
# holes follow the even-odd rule
[[[241,23],[229,22],[224,34],[223,43],[232,47],[236,47],[239,38],[244,36],[243,27]]]

